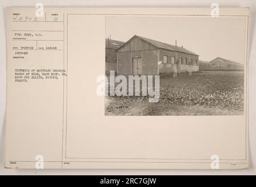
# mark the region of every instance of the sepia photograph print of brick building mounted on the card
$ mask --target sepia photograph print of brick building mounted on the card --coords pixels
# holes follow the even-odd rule
[[[108,16],[106,116],[244,115],[246,19]]]

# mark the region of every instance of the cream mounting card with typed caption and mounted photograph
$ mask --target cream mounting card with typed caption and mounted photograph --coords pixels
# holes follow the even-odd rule
[[[248,19],[6,8],[5,167],[248,168]]]

